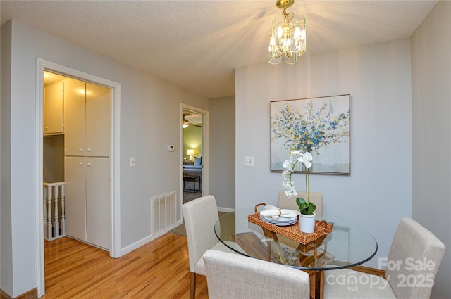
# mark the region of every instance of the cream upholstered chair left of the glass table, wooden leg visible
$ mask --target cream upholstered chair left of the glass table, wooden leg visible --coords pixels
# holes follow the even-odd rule
[[[208,249],[235,253],[218,241],[214,234],[214,224],[218,220],[218,207],[212,195],[195,198],[182,206],[188,242],[188,260],[190,261],[190,299],[196,296],[196,274],[205,276],[202,255]],[[237,253],[236,253],[237,255]]]

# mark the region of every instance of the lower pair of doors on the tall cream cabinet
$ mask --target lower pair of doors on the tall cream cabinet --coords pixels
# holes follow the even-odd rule
[[[66,235],[109,249],[109,158],[66,157]]]

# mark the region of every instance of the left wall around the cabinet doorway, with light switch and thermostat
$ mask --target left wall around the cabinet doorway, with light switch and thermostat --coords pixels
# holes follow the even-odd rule
[[[208,99],[15,20],[1,29],[1,286],[14,298],[37,287],[35,239],[42,237],[34,203],[37,58],[121,84],[121,248],[150,236],[152,196],[180,191],[180,103],[208,110]]]

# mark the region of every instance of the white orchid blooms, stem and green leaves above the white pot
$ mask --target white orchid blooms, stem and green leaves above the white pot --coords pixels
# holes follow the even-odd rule
[[[299,212],[302,215],[314,215],[316,206],[310,201],[310,167],[313,156],[309,152],[301,153],[301,151],[292,151],[290,158],[285,160],[283,163],[283,182],[282,186],[285,189],[285,194],[288,198],[297,196],[297,191],[295,189],[295,182],[292,180],[292,175],[295,173],[295,167],[297,163],[304,164],[305,167],[305,188],[306,188],[306,198],[297,197],[296,203],[299,207]]]

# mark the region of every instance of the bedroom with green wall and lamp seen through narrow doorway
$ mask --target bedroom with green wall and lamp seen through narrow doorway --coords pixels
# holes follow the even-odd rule
[[[183,204],[206,194],[206,111],[182,106],[181,114]]]

